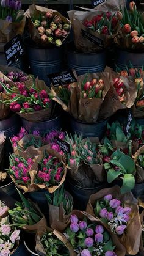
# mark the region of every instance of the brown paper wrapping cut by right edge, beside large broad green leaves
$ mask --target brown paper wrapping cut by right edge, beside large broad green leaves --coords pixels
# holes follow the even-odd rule
[[[135,152],[134,159],[135,159],[135,164],[136,164],[136,174],[135,174],[135,181],[137,183],[141,183],[144,181],[144,169],[140,167],[137,158],[139,155],[144,154],[144,145]]]

